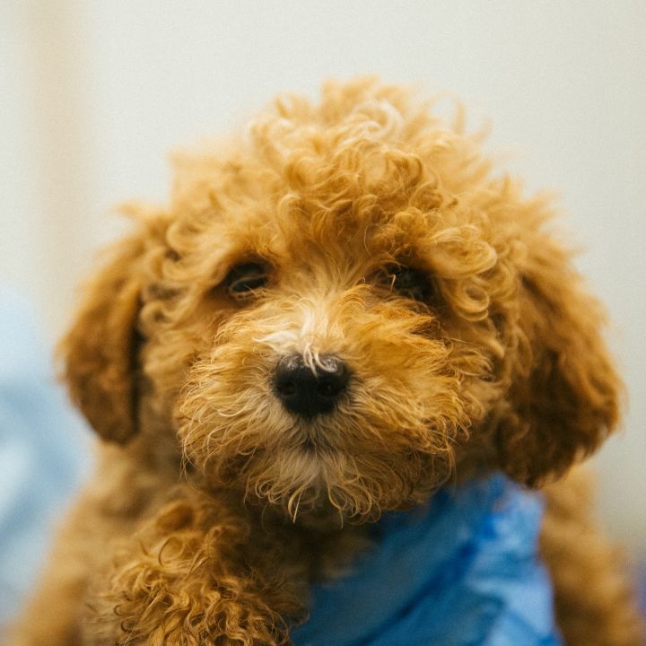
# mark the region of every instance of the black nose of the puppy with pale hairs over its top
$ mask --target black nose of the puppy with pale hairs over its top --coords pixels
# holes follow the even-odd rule
[[[345,363],[334,356],[320,356],[312,370],[294,354],[278,362],[274,391],[287,410],[313,417],[334,409],[349,380]]]

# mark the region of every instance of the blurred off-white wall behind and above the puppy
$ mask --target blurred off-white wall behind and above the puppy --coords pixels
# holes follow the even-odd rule
[[[646,556],[646,3],[643,0],[4,0],[0,282],[50,339],[130,197],[163,201],[167,153],[275,95],[377,73],[448,91],[528,191],[560,191],[611,312],[624,433],[599,456],[600,517]]]

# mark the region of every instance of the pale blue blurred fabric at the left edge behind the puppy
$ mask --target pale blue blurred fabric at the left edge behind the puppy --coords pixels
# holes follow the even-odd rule
[[[0,624],[30,589],[88,461],[29,304],[0,289]]]

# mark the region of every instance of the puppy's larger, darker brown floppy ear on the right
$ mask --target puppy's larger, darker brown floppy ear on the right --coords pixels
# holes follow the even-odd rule
[[[598,448],[618,421],[622,384],[601,337],[604,312],[569,254],[543,237],[528,254],[511,408],[497,441],[502,469],[537,485]]]

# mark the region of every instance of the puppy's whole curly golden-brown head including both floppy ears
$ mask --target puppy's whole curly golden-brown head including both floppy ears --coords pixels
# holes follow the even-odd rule
[[[146,398],[207,482],[292,516],[373,518],[466,465],[537,482],[616,418],[547,215],[402,92],[280,103],[119,244],[65,342],[73,395],[118,441]]]

